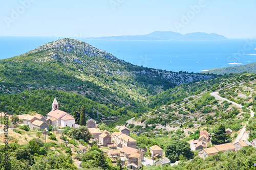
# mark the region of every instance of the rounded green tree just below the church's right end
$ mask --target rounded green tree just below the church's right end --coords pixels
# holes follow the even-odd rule
[[[79,128],[71,129],[67,135],[71,138],[75,138],[76,140],[83,139],[86,142],[93,138],[93,135],[90,134],[86,126],[80,126]]]

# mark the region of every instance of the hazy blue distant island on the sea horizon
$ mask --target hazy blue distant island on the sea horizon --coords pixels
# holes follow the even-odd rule
[[[172,31],[155,31],[146,35],[122,35],[111,37],[91,37],[87,40],[126,40],[126,41],[169,41],[169,40],[226,40],[227,38],[211,33],[188,33],[180,34]]]

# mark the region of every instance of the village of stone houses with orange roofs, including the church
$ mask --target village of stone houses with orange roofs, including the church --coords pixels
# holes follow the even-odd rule
[[[3,115],[3,113],[2,113]],[[22,125],[28,126],[32,130],[49,131],[49,126],[58,127],[59,129],[64,127],[79,128],[80,126],[75,124],[75,118],[58,109],[58,102],[56,98],[52,103],[52,110],[47,114],[47,116],[42,116],[40,114],[22,114],[17,115],[20,120],[23,120]],[[11,118],[11,116],[9,116]],[[101,131],[98,128],[96,120],[89,119],[86,124],[90,134],[93,138],[90,139],[89,144],[92,146],[96,145],[101,148],[104,153],[111,158],[112,163],[116,164],[117,158],[129,169],[140,169],[142,164],[145,166],[171,164],[175,162],[170,162],[168,158],[165,157],[164,151],[158,145],[153,145],[149,148],[138,148],[137,141],[130,137],[130,130],[125,126],[116,126],[115,128],[119,132],[110,133],[107,130]],[[10,128],[14,128],[10,126]],[[230,135],[232,130],[226,129],[226,134]],[[198,151],[198,156],[205,159],[208,156],[216,155],[219,152],[232,151],[236,152],[243,147],[252,146],[256,147],[256,139],[251,140],[241,140],[235,143],[224,143],[212,145],[211,138],[214,134],[209,134],[206,130],[201,130],[199,139],[191,141],[190,147],[193,151]],[[105,150],[104,148],[108,148]],[[144,152],[150,153],[147,157],[144,157]],[[177,162],[176,162],[177,163]]]

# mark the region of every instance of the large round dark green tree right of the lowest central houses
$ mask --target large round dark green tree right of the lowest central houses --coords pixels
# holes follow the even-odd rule
[[[184,140],[174,140],[167,144],[165,148],[165,156],[170,162],[176,162],[183,155],[187,159],[194,157],[194,153],[190,150],[190,145]]]

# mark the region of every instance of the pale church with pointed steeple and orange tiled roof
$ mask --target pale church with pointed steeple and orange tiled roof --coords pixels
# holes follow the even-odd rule
[[[59,104],[54,98],[54,101],[52,103],[52,110],[47,114],[47,120],[48,125],[55,125],[61,127],[69,126],[71,128],[78,128],[79,125],[75,124],[75,118],[64,112],[59,110]]]

